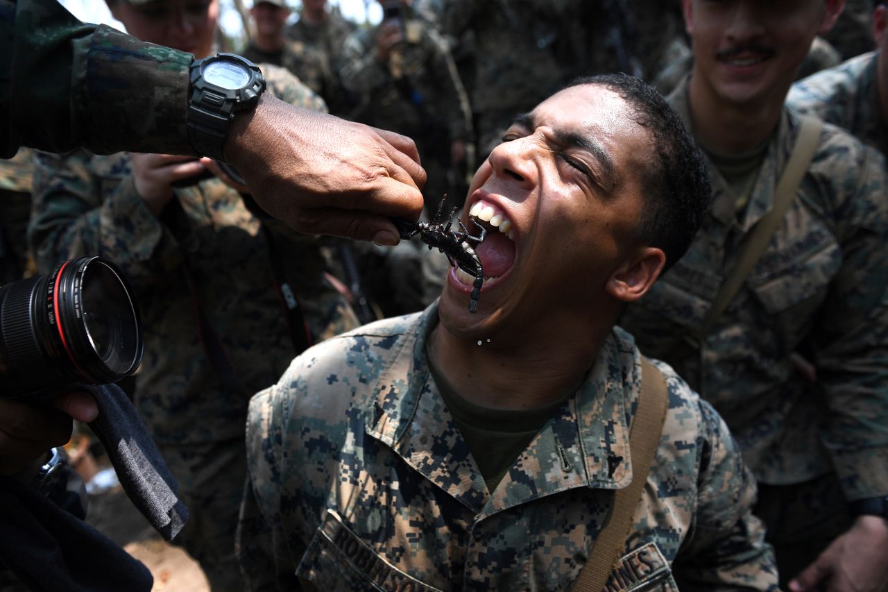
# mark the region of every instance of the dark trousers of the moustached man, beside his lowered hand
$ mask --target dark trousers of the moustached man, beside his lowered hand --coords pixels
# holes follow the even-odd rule
[[[836,473],[792,485],[758,484],[754,514],[767,526],[781,589],[851,527],[852,517]]]

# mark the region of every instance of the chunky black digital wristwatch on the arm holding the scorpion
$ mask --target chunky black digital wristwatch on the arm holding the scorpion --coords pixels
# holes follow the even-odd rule
[[[231,120],[256,108],[266,90],[262,71],[234,53],[217,53],[191,64],[188,140],[202,156],[226,162],[222,148]]]

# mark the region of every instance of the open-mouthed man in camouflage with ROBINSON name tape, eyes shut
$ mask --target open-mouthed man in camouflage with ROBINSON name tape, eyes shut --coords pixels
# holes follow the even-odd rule
[[[571,588],[635,483],[599,589],[774,589],[724,422],[614,327],[709,196],[693,140],[637,78],[517,117],[464,204],[487,230],[478,311],[454,268],[438,303],[306,350],[251,401],[250,588]],[[657,380],[651,462],[631,428]]]

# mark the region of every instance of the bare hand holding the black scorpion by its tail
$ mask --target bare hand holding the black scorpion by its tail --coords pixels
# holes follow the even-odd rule
[[[398,244],[389,219],[416,220],[423,209],[413,140],[268,93],[234,118],[226,158],[266,212],[305,234]]]

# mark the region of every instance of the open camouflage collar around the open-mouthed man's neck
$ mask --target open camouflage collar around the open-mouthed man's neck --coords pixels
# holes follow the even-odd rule
[[[369,436],[478,519],[575,487],[620,489],[630,483],[627,412],[640,388],[638,351],[630,342],[608,335],[577,394],[543,426],[491,495],[429,372],[425,343],[437,322],[436,302],[392,346],[397,351],[380,373],[369,411]]]

